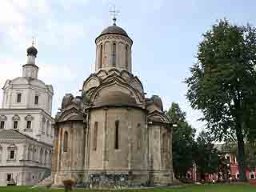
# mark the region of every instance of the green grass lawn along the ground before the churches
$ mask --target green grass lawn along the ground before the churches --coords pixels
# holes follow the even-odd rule
[[[7,186],[0,187],[0,192],[63,192],[64,190],[46,190],[46,189],[31,189],[30,187],[24,186]],[[100,192],[102,190],[82,190],[76,189],[72,192],[82,192],[82,191],[94,191]],[[107,190],[103,190],[107,191]],[[129,191],[129,192],[256,192],[256,186],[249,184],[237,184],[237,185],[202,185],[202,186],[181,186],[174,188],[154,188],[146,190],[119,190],[119,191]]]

